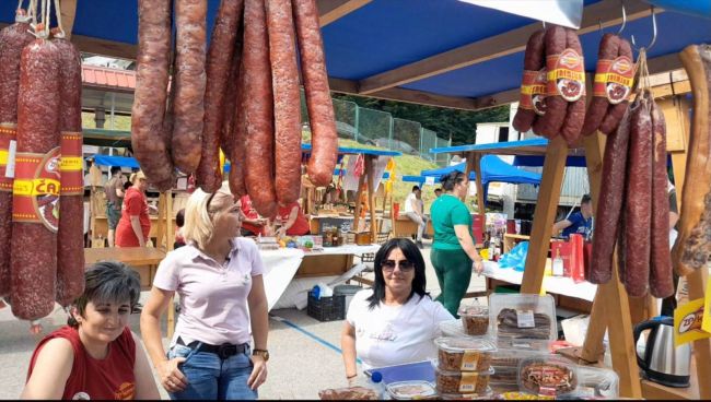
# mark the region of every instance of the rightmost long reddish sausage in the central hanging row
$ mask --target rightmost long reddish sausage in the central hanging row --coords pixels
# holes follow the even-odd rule
[[[311,123],[312,151],[307,173],[314,185],[327,186],[333,181],[338,158],[338,135],[318,25],[318,10],[315,0],[293,1],[293,8]]]

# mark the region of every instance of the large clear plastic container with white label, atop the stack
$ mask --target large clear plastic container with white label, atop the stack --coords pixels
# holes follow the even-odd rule
[[[492,294],[489,297],[489,334],[499,340],[557,340],[553,297]]]

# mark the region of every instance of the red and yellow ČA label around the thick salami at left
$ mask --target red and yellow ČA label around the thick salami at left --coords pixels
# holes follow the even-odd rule
[[[12,221],[42,223],[53,233],[59,224],[60,147],[47,154],[18,153],[12,186]]]

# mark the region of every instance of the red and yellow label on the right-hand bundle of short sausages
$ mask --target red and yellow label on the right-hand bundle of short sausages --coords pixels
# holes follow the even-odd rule
[[[634,63],[629,57],[598,60],[595,71],[593,96],[607,97],[613,105],[627,99],[634,84]]]

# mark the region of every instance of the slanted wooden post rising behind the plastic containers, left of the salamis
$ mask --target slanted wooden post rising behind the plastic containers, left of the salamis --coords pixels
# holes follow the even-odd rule
[[[521,293],[534,295],[540,293],[546,259],[550,248],[550,232],[556,218],[567,159],[568,144],[562,135],[558,135],[548,143],[546,149],[546,161],[538,188],[538,201],[534,212],[531,245],[526,256],[526,270],[523,273]]]

